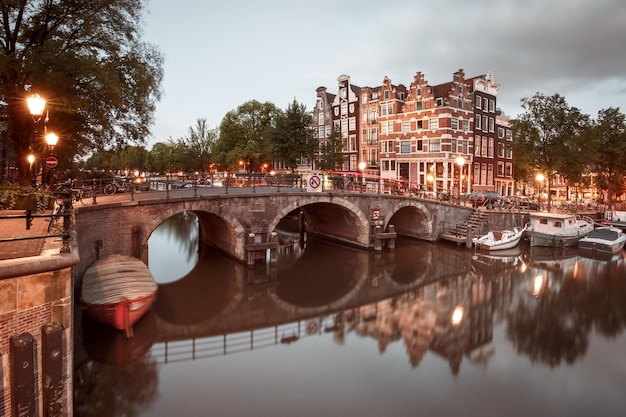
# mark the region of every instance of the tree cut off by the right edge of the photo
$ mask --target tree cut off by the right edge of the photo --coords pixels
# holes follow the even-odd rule
[[[619,108],[598,112],[591,128],[595,149],[592,170],[598,174],[598,185],[608,190],[608,205],[613,209],[613,196],[624,184],[626,175],[626,121]]]

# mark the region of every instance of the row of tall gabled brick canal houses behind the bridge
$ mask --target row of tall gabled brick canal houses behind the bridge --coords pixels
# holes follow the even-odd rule
[[[408,88],[388,77],[377,87],[358,87],[348,75],[337,81],[336,94],[317,89],[313,127],[320,146],[341,131],[342,171],[431,192],[514,194],[509,118],[496,105],[492,73],[465,78],[460,69],[431,86],[417,72]]]

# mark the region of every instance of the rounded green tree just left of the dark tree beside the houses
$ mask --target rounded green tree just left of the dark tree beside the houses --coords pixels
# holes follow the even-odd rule
[[[253,168],[269,160],[272,156],[270,130],[279,111],[272,103],[252,100],[226,113],[215,143],[218,164],[229,169],[243,160]]]

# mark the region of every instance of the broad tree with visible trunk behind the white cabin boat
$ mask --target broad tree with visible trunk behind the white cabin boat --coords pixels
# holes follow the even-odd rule
[[[587,153],[589,144],[584,137],[589,126],[588,116],[570,107],[558,94],[548,97],[536,93],[531,98],[523,98],[522,108],[525,112],[511,121],[516,164],[526,164],[520,169],[544,173],[548,190],[556,173],[567,172],[574,177],[574,166],[581,173],[584,164],[571,161]],[[550,201],[548,192],[548,211]]]

